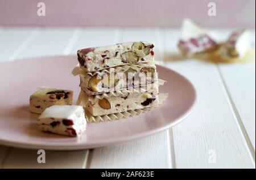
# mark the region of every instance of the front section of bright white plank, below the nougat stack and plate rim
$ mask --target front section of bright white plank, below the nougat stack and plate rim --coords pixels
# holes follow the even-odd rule
[[[90,168],[171,168],[167,131],[133,142],[96,148]]]

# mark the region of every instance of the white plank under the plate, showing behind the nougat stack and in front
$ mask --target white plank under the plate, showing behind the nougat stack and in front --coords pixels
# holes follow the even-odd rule
[[[155,41],[156,58],[162,59],[159,28],[125,28],[118,42]],[[171,168],[168,131],[133,142],[94,149],[90,168]]]

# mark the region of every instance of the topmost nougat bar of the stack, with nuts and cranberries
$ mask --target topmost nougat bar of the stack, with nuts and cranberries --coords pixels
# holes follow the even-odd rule
[[[87,72],[105,68],[154,61],[153,42],[123,42],[77,51],[80,67]]]

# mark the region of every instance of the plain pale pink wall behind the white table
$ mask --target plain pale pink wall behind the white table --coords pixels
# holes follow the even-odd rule
[[[38,2],[46,16],[38,16]],[[216,16],[208,16],[215,2]],[[180,25],[255,27],[255,0],[0,0],[0,25]]]

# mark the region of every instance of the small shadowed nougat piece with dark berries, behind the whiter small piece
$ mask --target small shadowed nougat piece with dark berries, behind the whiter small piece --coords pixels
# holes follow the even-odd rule
[[[41,114],[53,105],[72,105],[73,91],[57,88],[40,88],[30,96],[30,111]]]

